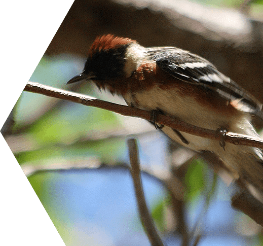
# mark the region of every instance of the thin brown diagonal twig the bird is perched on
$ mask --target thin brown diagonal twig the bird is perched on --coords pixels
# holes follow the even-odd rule
[[[42,85],[39,83],[28,82],[24,88],[25,91],[40,93],[47,96],[52,96],[59,99],[64,99],[68,101],[77,102],[83,104],[85,106],[97,107],[100,109],[110,110],[112,112],[124,115],[124,116],[132,116],[143,118],[145,120],[151,121],[152,114],[151,112],[140,110],[128,106],[123,106],[120,104],[107,102],[103,100],[99,100],[97,98],[74,93],[66,90],[57,89],[54,87]],[[221,140],[221,136],[217,131],[197,127],[191,125],[189,123],[180,121],[175,118],[171,118],[162,114],[158,114],[156,117],[156,122],[159,124],[163,124],[169,127],[172,127],[178,131],[190,133],[192,135],[201,136],[205,138],[210,138],[213,140]],[[243,134],[237,134],[233,132],[227,132],[226,137],[224,137],[224,141],[228,143],[232,143],[235,145],[246,145],[251,147],[257,147],[263,149],[263,140],[251,137]]]

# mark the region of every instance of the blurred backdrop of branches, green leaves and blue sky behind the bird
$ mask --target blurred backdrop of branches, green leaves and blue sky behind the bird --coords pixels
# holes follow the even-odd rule
[[[82,72],[93,40],[112,33],[199,54],[263,102],[262,20],[262,0],[76,0],[30,81],[125,104],[92,83],[66,85]],[[1,132],[67,246],[150,245],[128,170],[130,137],[167,246],[197,238],[263,245],[262,227],[231,207],[235,187],[142,119],[22,92]]]

